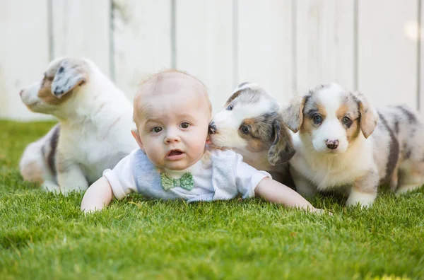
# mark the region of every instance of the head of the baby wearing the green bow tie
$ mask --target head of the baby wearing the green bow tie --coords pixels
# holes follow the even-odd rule
[[[184,170],[204,154],[211,115],[201,81],[183,72],[161,71],[139,86],[132,134],[153,164]]]

